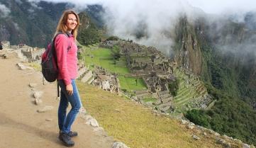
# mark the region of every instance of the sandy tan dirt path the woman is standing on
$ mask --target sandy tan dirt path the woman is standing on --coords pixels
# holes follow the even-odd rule
[[[40,72],[31,69],[18,69],[19,59],[0,57],[0,147],[64,147],[58,140],[57,127],[57,92],[55,84],[43,85]],[[35,90],[43,91],[40,106],[34,104],[33,91],[28,86],[35,83]],[[44,106],[54,108],[45,113],[37,113]],[[50,119],[50,121],[47,121]],[[111,137],[94,132],[81,117],[77,118],[72,130],[79,132],[74,137],[74,147],[110,148]]]

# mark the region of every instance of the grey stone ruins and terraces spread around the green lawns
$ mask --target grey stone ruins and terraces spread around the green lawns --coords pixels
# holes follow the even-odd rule
[[[157,101],[155,102],[146,102],[143,104],[157,108],[157,110],[160,110],[162,113],[170,113],[175,107],[173,103],[173,96],[171,95],[168,86],[173,81],[177,81],[177,77],[174,75],[174,70],[179,69],[180,72],[186,75],[185,77],[182,77],[185,81],[185,87],[189,88],[190,86],[193,86],[196,89],[196,92],[199,93],[198,96],[201,97],[193,98],[193,101],[189,101],[187,106],[189,105],[189,108],[205,108],[211,101],[205,87],[201,83],[194,82],[199,81],[198,76],[183,67],[179,67],[176,61],[167,58],[155,47],[146,47],[126,40],[106,40],[100,44],[101,47],[106,48],[113,48],[114,45],[118,45],[118,47],[120,47],[120,58],[126,59],[126,62],[121,61],[117,62],[117,64],[127,66],[131,72],[131,74],[127,75],[143,79],[148,87],[148,90],[133,91],[130,92],[130,94],[121,91],[123,95],[140,103],[143,103],[143,98],[156,98]],[[94,81],[96,85],[99,85],[101,89],[104,88],[110,90],[109,88],[111,85],[109,85],[109,82],[107,81],[109,81],[111,77],[109,75],[101,76],[101,72],[98,73],[98,79],[101,80],[101,84],[99,85],[99,83]],[[102,75],[105,74],[103,73]],[[116,81],[118,81],[117,76]],[[121,90],[120,88],[121,86],[118,84],[118,90]],[[187,106],[184,106],[184,108],[187,108]]]

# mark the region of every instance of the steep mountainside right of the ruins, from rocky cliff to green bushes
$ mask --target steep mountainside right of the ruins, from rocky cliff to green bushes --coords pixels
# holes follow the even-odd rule
[[[255,24],[235,23],[228,18],[222,20],[221,28],[218,25],[204,18],[192,25],[186,17],[180,18],[177,25],[174,59],[199,74],[208,93],[216,99],[212,108],[189,110],[186,117],[255,144]]]

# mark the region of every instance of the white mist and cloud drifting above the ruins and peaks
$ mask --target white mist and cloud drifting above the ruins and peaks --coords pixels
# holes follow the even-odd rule
[[[37,3],[40,0],[29,0]],[[245,16],[249,11],[256,10],[256,1],[253,0],[45,0],[49,2],[66,2],[74,4],[76,11],[82,11],[87,5],[100,4],[106,13],[103,18],[109,35],[117,35],[126,40],[133,40],[143,45],[157,47],[167,55],[172,54],[174,28],[180,16],[186,15],[191,23],[199,17],[204,17],[212,27],[208,30],[211,38],[222,35],[227,20],[234,23],[245,23]],[[256,16],[256,15],[255,15]],[[225,21],[223,21],[225,20]],[[256,20],[256,18],[255,18]],[[250,24],[250,23],[247,23]],[[254,26],[252,24],[252,26]],[[253,35],[252,35],[253,36]],[[225,39],[224,39],[225,38]],[[255,50],[254,42],[245,45],[235,45],[238,42],[226,42],[230,36],[216,38],[216,46],[220,50],[235,51],[234,47],[243,47],[247,51]],[[250,38],[248,40],[251,40]],[[252,44],[252,45],[250,45]],[[247,47],[245,47],[247,46]],[[237,50],[240,50],[237,49]]]

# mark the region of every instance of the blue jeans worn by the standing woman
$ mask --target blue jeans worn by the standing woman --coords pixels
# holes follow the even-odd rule
[[[72,123],[77,118],[79,109],[82,107],[82,103],[79,97],[79,92],[75,80],[72,79],[73,94],[69,96],[67,94],[66,85],[62,79],[57,80],[61,91],[60,91],[60,106],[58,110],[58,123],[61,132],[68,133],[71,129]],[[67,114],[67,106],[71,104],[72,108]],[[67,115],[66,115],[67,114]]]

